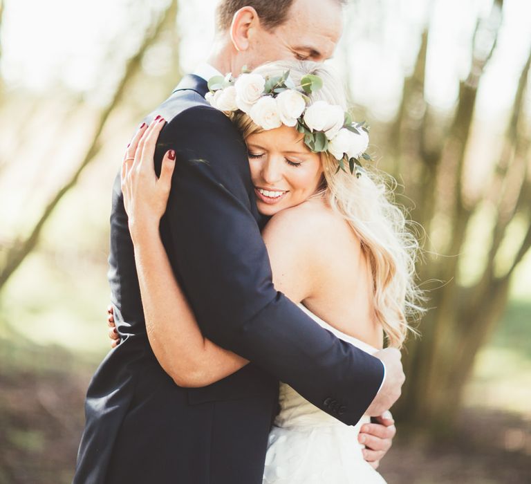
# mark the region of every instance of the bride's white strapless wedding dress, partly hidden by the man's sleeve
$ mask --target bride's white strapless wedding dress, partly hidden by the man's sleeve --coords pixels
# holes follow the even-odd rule
[[[367,353],[378,351],[348,336],[299,304],[320,326]],[[280,383],[280,413],[269,434],[263,484],[385,484],[363,458],[360,427],[345,425],[315,407],[285,383]]]

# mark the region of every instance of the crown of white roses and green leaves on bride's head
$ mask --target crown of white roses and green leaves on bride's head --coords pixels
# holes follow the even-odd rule
[[[369,127],[365,122],[353,122],[341,106],[317,101],[310,104],[308,94],[323,86],[317,75],[301,78],[299,86],[290,77],[243,73],[236,80],[231,74],[218,75],[208,82],[205,99],[225,112],[243,111],[262,129],[275,129],[286,124],[304,133],[304,143],[314,153],[328,151],[338,163],[337,171],[346,171],[346,163],[360,178],[363,167],[360,158],[371,160],[365,152],[369,146]],[[337,173],[336,171],[336,173]]]

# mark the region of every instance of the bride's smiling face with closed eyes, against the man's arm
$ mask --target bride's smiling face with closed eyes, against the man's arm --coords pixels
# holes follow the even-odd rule
[[[323,174],[321,157],[306,147],[297,129],[282,125],[245,141],[261,214],[274,215],[315,194]]]

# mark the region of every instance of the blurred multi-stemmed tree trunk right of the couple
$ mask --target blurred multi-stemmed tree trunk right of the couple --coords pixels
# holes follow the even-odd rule
[[[420,281],[444,283],[428,294],[432,309],[420,325],[422,337],[407,344],[404,367],[408,378],[396,413],[402,420],[440,431],[448,429],[454,419],[474,358],[499,322],[510,277],[531,245],[530,136],[523,112],[531,52],[521,72],[501,158],[491,179],[474,199],[465,186],[476,95],[496,48],[502,8],[503,1],[495,0],[490,17],[476,24],[470,72],[460,82],[454,116],[443,129],[443,120],[431,113],[424,98],[429,32],[423,32],[416,68],[404,83],[402,103],[391,129],[394,174],[404,178],[416,207],[409,207],[411,215],[441,254],[429,255],[419,265]],[[472,216],[485,204],[496,212],[492,237],[475,243],[488,245],[489,252],[481,277],[465,286],[459,279],[460,264],[467,257],[463,248],[467,237],[473,235]],[[500,263],[501,246],[515,217],[526,230],[512,260],[504,266]]]

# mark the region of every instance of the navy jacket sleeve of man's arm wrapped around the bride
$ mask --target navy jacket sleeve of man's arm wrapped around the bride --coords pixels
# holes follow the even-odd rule
[[[156,169],[167,149],[177,163],[162,239],[205,336],[354,425],[380,388],[383,365],[274,289],[239,132],[220,111],[194,106],[163,129]]]

